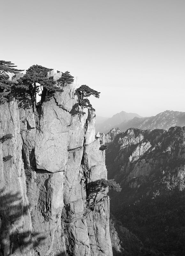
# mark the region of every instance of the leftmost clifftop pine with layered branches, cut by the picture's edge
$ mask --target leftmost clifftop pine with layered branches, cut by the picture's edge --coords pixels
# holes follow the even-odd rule
[[[11,61],[0,60],[0,103],[7,100],[12,89],[12,82],[8,81],[8,73],[17,74],[24,69],[17,69]]]

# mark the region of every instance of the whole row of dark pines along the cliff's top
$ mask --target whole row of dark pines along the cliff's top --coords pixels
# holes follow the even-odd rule
[[[18,98],[23,97],[25,93],[29,94],[32,100],[33,112],[36,112],[36,95],[40,94],[41,101],[50,98],[55,92],[63,92],[63,87],[67,84],[71,84],[74,81],[74,77],[70,75],[69,71],[62,72],[61,78],[57,81],[47,78],[47,72],[52,70],[40,65],[33,65],[26,70],[26,74],[19,79],[10,80],[9,73],[18,74],[23,69],[17,69],[14,63],[11,61],[0,60],[0,103],[7,101],[10,94],[16,95]],[[75,106],[78,109],[75,113],[79,112],[79,106],[83,108],[89,108],[91,111],[95,111],[87,97],[93,95],[99,98],[100,92],[91,89],[87,85],[81,85],[76,91],[79,99],[79,103]],[[84,113],[84,112],[82,112]]]

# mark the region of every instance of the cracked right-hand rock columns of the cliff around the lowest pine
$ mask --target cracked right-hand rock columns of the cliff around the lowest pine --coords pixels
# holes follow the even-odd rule
[[[92,118],[92,113],[89,113],[89,115],[87,130],[89,125],[89,131],[91,130],[93,132],[93,136],[90,132],[87,135],[86,132],[88,142],[92,141],[95,136],[95,131],[92,129],[95,121],[94,118]],[[91,139],[89,140],[89,138]],[[88,202],[86,201],[86,196],[89,195],[89,184],[92,181],[106,179],[107,177],[104,164],[105,153],[99,150],[99,140],[99,138],[94,139],[91,143],[86,145],[84,149],[81,148],[70,151],[66,164],[66,180],[64,185],[64,202],[66,206],[62,214],[62,220],[64,227],[68,230],[66,234],[67,240],[70,241],[72,239],[75,241],[74,244],[70,244],[69,242],[67,252],[73,252],[75,256],[112,255],[109,234],[109,210],[106,211],[106,209],[109,208],[109,198],[107,199],[105,196],[107,191],[100,191],[96,198],[96,191],[93,193],[92,196],[94,196],[94,199],[92,199],[92,203],[93,200],[97,201],[94,202],[94,210],[89,209],[90,205],[88,202],[91,204],[89,197]],[[80,158],[81,166],[79,166]],[[97,221],[98,223],[95,227],[94,225]]]

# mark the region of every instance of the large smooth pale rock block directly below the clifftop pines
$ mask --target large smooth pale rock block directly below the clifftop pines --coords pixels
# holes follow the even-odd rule
[[[83,146],[84,118],[72,116],[77,103],[77,85],[65,86],[64,92],[43,103],[40,127],[36,132],[35,160],[37,169],[49,172],[64,171],[68,151]]]

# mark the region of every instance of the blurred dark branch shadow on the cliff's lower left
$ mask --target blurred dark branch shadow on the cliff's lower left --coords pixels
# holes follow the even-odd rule
[[[0,256],[10,256],[21,253],[23,250],[31,250],[38,246],[44,236],[32,233],[27,226],[23,231],[22,220],[28,214],[28,205],[23,205],[23,199],[19,192],[7,192],[0,189]]]

